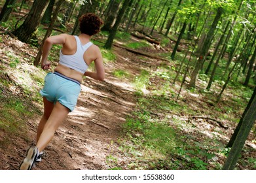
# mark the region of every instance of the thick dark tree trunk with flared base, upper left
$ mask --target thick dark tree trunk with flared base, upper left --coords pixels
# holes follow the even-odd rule
[[[23,24],[12,33],[22,42],[29,43],[33,37],[33,33],[39,27],[43,14],[48,6],[49,0],[35,0],[33,6],[27,15]]]

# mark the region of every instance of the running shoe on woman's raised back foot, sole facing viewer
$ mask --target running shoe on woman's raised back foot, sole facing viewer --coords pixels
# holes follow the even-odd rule
[[[37,155],[37,148],[29,148],[27,151],[27,156],[23,160],[22,164],[20,165],[20,170],[31,170],[33,164],[35,162],[35,157]]]

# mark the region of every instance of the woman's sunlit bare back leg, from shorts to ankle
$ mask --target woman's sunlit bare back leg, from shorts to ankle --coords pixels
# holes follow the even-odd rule
[[[42,121],[41,125],[43,126],[43,123],[45,123],[45,125],[37,141],[37,148],[39,152],[43,151],[48,143],[52,140],[55,131],[65,120],[67,114],[69,114],[69,109],[64,107],[64,105],[60,104],[59,102],[56,102],[56,105],[54,105],[46,123],[45,119]]]

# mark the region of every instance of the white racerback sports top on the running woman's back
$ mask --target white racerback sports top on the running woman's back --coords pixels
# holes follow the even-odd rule
[[[88,65],[84,61],[84,52],[93,44],[92,42],[88,42],[86,44],[82,44],[79,37],[75,36],[75,40],[77,41],[77,52],[73,55],[64,55],[62,54],[62,50],[60,50],[60,64],[65,65],[75,71],[79,71],[84,74],[88,69]]]

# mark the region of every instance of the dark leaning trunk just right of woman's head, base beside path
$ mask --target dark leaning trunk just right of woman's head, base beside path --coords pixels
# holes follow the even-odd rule
[[[117,21],[115,22],[115,25],[111,29],[111,32],[109,33],[109,37],[107,38],[107,41],[105,42],[104,48],[111,49],[113,41],[115,39],[115,35],[117,33],[117,29],[119,28],[119,24],[122,20],[122,16],[124,15],[124,12],[126,8],[128,8],[130,0],[124,0],[124,4],[122,5],[122,8],[119,11],[119,14],[117,16]]]

